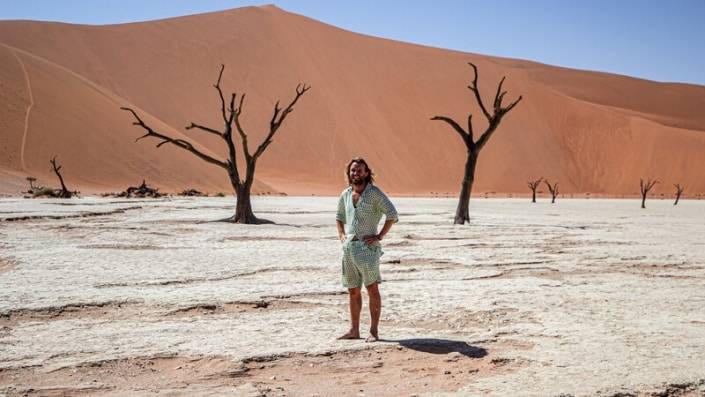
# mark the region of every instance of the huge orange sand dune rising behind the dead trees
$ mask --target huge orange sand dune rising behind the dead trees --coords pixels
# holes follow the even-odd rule
[[[633,195],[641,177],[662,181],[656,193],[673,183],[705,193],[702,86],[401,43],[273,6],[108,26],[5,21],[0,43],[0,180],[24,173],[52,182],[56,154],[78,189],[146,178],[165,190],[230,192],[217,167],[155,141],[134,143],[142,131],[118,109],[139,108],[160,130],[224,156],[217,139],[183,129],[221,126],[212,84],[223,63],[224,88],[247,93],[251,142],[266,134],[277,99],[288,101],[299,82],[313,87],[262,156],[256,191],[336,194],[345,162],[361,155],[391,193],[454,193],[464,147],[429,119],[472,111],[475,130],[484,128],[465,88],[472,61],[486,101],[503,75],[508,98],[524,96],[481,154],[476,194],[523,193],[539,176],[564,193]]]

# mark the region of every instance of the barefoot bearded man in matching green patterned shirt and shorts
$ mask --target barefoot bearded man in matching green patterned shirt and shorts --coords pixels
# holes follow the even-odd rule
[[[362,285],[367,288],[370,302],[370,335],[366,342],[379,340],[379,317],[382,298],[379,294],[380,241],[397,222],[398,215],[387,196],[372,184],[372,169],[362,158],[354,158],[346,169],[350,185],[340,195],[336,224],[338,237],[343,243],[342,281],[348,289],[350,301],[350,330],[338,339],[360,337],[360,311],[362,310]],[[377,233],[377,224],[385,215],[384,226]]]

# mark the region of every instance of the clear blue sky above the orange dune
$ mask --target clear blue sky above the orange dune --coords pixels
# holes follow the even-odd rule
[[[144,21],[266,2],[0,0],[0,19]],[[434,47],[705,85],[705,0],[281,0],[359,33]]]

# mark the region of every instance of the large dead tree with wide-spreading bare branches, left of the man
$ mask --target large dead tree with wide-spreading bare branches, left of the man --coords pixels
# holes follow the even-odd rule
[[[245,132],[242,123],[240,122],[240,115],[242,114],[243,104],[245,102],[245,94],[241,94],[240,99],[238,101],[237,94],[232,93],[230,95],[229,105],[226,105],[225,96],[223,95],[223,90],[220,87],[220,81],[223,77],[224,69],[225,65],[221,65],[220,73],[218,74],[218,80],[213,85],[216,91],[218,91],[218,97],[220,99],[220,113],[223,119],[223,130],[217,130],[215,128],[203,126],[193,122],[191,122],[191,125],[187,126],[186,129],[197,129],[201,132],[220,137],[225,142],[225,145],[228,149],[228,158],[225,160],[221,160],[212,157],[206,153],[203,153],[202,151],[196,149],[193,144],[186,140],[172,138],[170,136],[155,131],[150,126],[146,125],[144,121],[142,121],[142,119],[137,115],[137,113],[131,108],[122,107],[121,109],[131,112],[132,115],[135,117],[136,121],[132,124],[138,125],[147,131],[146,134],[137,138],[135,142],[139,141],[142,138],[153,137],[161,141],[157,144],[158,148],[166,143],[170,143],[176,147],[193,153],[196,157],[200,158],[201,160],[207,163],[216,165],[224,169],[228,173],[228,177],[230,178],[230,184],[232,185],[233,190],[235,191],[235,196],[237,197],[237,204],[235,207],[235,214],[232,217],[226,219],[226,221],[246,224],[270,223],[269,221],[266,221],[264,219],[258,219],[252,212],[252,204],[250,202],[250,191],[252,190],[252,184],[255,180],[255,165],[257,164],[257,160],[260,158],[260,156],[262,156],[262,153],[264,153],[267,147],[272,143],[272,138],[274,138],[274,134],[277,133],[279,127],[281,127],[282,123],[284,123],[286,117],[289,115],[289,113],[294,111],[294,105],[296,105],[296,102],[298,102],[299,98],[301,98],[301,96],[304,95],[306,91],[308,91],[311,87],[307,86],[306,84],[297,85],[296,95],[285,108],[279,107],[279,101],[276,102],[276,104],[274,105],[274,112],[272,114],[272,118],[269,121],[269,132],[267,133],[262,143],[257,146],[255,151],[250,152],[248,146],[249,142],[247,139],[248,135]],[[244,170],[244,179],[240,177],[242,170],[238,167],[237,164],[237,151],[235,147],[235,142],[233,141],[233,133],[237,133],[240,136],[240,145],[245,158],[246,166]]]

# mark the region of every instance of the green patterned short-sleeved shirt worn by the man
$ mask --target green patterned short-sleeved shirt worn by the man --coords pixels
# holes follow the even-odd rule
[[[345,224],[346,241],[353,237],[362,240],[365,236],[377,234],[377,225],[382,215],[386,216],[386,220],[399,220],[394,204],[377,186],[367,184],[357,201],[357,207],[353,205],[352,193],[352,186],[343,190],[335,215],[336,220]]]

